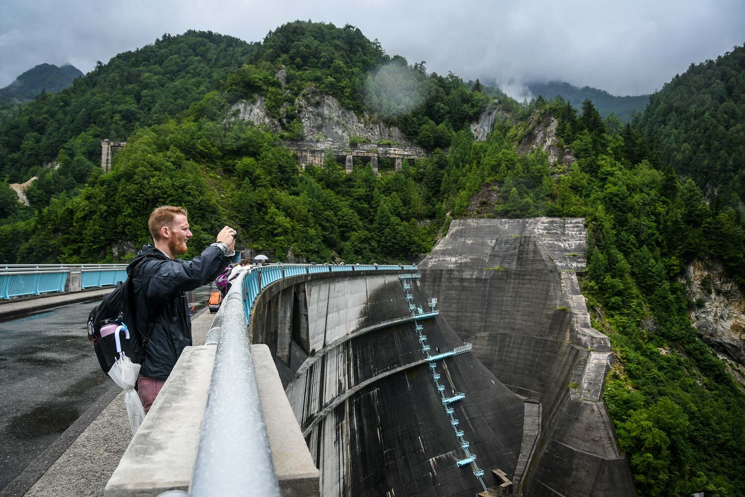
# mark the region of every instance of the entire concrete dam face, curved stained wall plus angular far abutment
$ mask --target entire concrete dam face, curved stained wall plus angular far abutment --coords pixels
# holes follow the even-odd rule
[[[585,244],[581,219],[460,220],[420,278],[267,287],[251,342],[273,351],[321,495],[634,496],[574,273]]]

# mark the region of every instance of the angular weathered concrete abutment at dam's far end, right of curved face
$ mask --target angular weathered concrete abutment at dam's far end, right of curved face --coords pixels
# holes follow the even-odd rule
[[[635,495],[600,398],[610,344],[592,329],[577,283],[583,221],[456,220],[419,265],[422,287],[473,355],[539,405],[530,411],[535,449],[514,481],[519,495]]]

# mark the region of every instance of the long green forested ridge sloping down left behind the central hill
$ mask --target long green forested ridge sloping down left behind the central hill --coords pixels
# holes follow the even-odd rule
[[[83,183],[100,159],[102,139],[124,140],[136,127],[188,109],[238,69],[250,50],[237,38],[188,32],[99,63],[72,88],[40,95],[2,119],[0,176],[22,182],[57,160],[80,170],[68,176],[77,174]]]

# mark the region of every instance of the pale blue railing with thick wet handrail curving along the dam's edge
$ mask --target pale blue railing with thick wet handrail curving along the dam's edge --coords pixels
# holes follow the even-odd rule
[[[416,270],[416,266],[267,265],[242,273],[232,282],[205,341],[218,349],[188,495],[243,496],[247,489],[256,496],[280,495],[247,329],[251,308],[261,291],[294,276],[346,276],[379,270],[400,273]]]

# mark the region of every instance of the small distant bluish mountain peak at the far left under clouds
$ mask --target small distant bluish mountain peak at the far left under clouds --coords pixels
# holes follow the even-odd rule
[[[0,105],[34,100],[41,92],[59,92],[60,89],[72,86],[72,80],[81,76],[83,73],[80,69],[71,64],[62,67],[39,64],[0,89]]]

